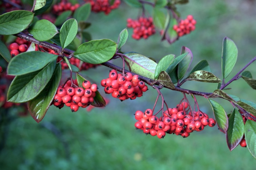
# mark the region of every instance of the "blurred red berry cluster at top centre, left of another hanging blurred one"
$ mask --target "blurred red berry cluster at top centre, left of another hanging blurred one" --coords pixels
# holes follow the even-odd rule
[[[153,35],[156,32],[152,17],[139,17],[138,20],[128,18],[127,27],[133,28],[132,38],[135,40],[141,38],[147,39],[150,35]]]

